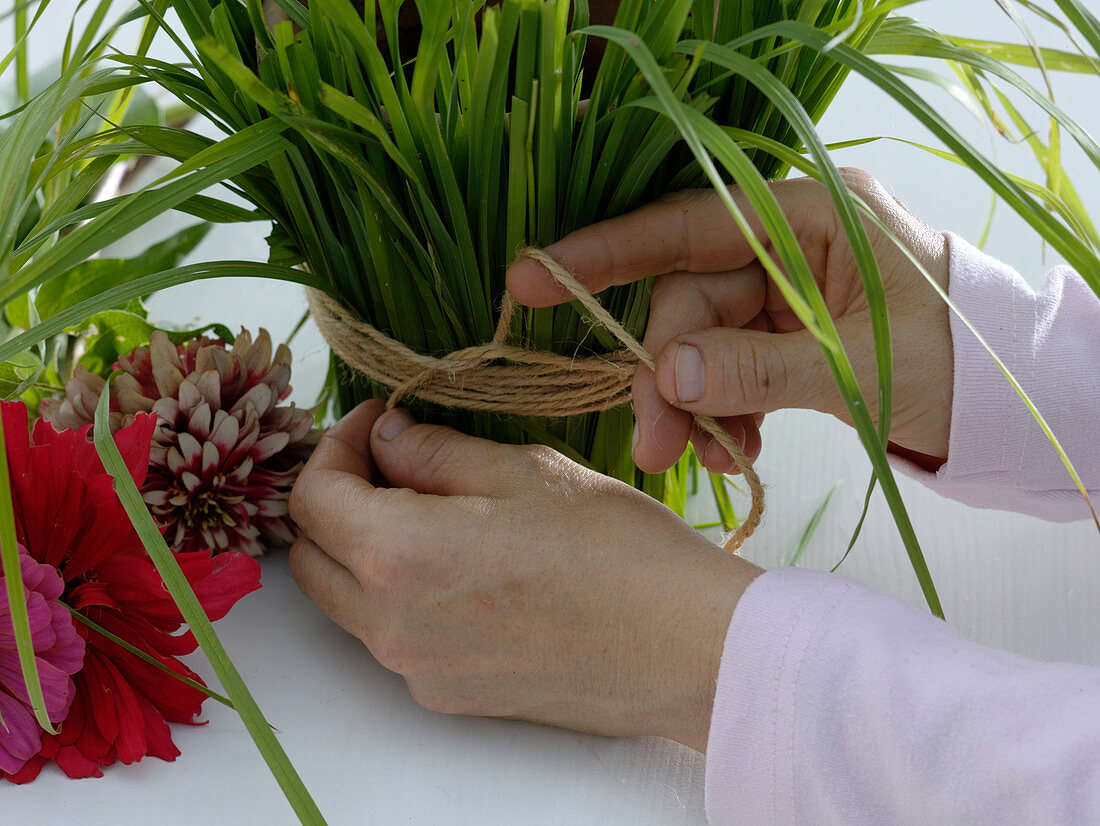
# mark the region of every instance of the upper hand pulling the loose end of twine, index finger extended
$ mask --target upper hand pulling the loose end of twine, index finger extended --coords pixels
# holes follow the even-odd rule
[[[949,262],[944,236],[867,173],[844,169],[842,174],[849,189],[946,289]],[[810,178],[776,181],[771,188],[806,254],[877,420],[871,317],[832,199]],[[755,211],[736,189],[733,192],[757,238],[776,257]],[[950,430],[954,359],[948,310],[893,241],[866,219],[864,225],[886,287],[893,337],[891,449],[934,470],[947,456]],[[664,197],[578,230],[546,252],[593,293],[656,276],[642,343],[657,356],[657,372],[639,367],[632,388],[634,459],[644,471],[670,467],[689,439],[710,470],[736,470],[728,453],[693,427],[692,414],[718,418],[749,459],[760,452],[765,412],[809,408],[851,423],[816,340],[712,190]],[[532,307],[570,298],[541,264],[530,260],[515,262],[507,282],[508,291]]]

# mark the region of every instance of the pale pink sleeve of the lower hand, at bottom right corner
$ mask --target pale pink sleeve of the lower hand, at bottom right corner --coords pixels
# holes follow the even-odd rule
[[[712,824],[1100,823],[1100,670],[985,648],[821,571],[745,592],[706,756]]]

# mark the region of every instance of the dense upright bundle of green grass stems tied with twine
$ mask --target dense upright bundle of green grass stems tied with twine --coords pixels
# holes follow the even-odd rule
[[[693,37],[726,43],[785,20],[828,31],[855,25],[853,42],[867,42],[883,15],[865,9],[857,18],[858,5],[628,0],[615,24],[636,33],[693,111],[795,150],[795,131],[766,91],[676,46]],[[418,354],[440,357],[493,339],[505,268],[524,245],[707,183],[676,124],[651,106],[653,88],[627,51],[594,48],[605,41],[578,34],[590,23],[584,3],[422,2],[410,15],[396,2],[356,9],[314,0],[307,9],[288,0],[268,5],[264,25],[254,7],[175,7],[218,92],[193,102],[234,129],[274,118],[294,130],[293,148],[268,162],[271,178],[249,181],[275,220],[273,261],[305,266],[354,317]],[[613,8],[597,16],[606,20]],[[793,89],[813,117],[846,73],[811,47],[780,47],[777,36],[739,54]],[[167,71],[143,68],[187,95]],[[754,151],[752,159],[763,177],[785,174],[774,154]],[[636,284],[602,300],[640,338],[648,298],[648,285]],[[522,311],[510,340],[570,359],[620,348],[575,306]],[[331,383],[342,411],[404,382],[398,375],[380,386],[338,364]],[[686,464],[669,476],[638,472],[632,417],[614,393],[609,409],[544,417],[417,404],[418,387],[407,389],[406,403],[424,418],[550,444],[682,507]]]

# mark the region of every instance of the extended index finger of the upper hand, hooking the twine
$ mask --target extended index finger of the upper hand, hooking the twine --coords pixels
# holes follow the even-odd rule
[[[759,222],[738,190],[738,206],[760,235]],[[716,273],[756,258],[725,205],[711,189],[674,192],[634,212],[570,233],[546,247],[590,293],[675,272]],[[507,273],[508,293],[528,307],[572,298],[536,261],[520,256]]]

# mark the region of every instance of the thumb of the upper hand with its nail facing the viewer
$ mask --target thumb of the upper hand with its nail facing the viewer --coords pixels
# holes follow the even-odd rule
[[[679,408],[718,417],[785,407],[834,412],[838,398],[821,348],[806,330],[715,327],[683,333],[657,357],[657,389]]]

